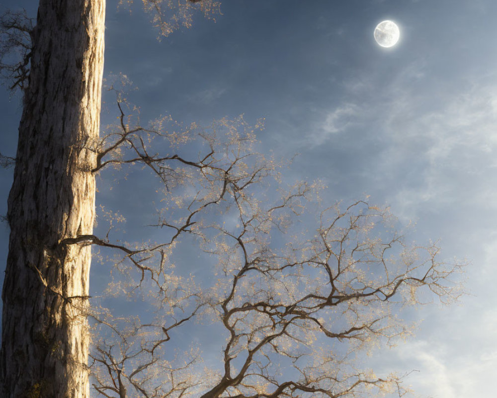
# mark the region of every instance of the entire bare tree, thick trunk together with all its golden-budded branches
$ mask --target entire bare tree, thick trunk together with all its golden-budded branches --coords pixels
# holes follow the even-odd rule
[[[429,292],[457,297],[458,266],[439,263],[435,245],[412,248],[389,232],[387,209],[357,201],[313,213],[319,184],[284,190],[279,162],[254,150],[262,121],[180,129],[166,117],[145,128],[118,99],[119,123],[99,138],[104,5],[41,0],[34,28],[4,25],[32,41],[21,45],[20,69],[3,68],[24,90],[24,110],[7,214],[2,396],[86,398],[88,368],[108,398],[401,395],[399,377],[375,377],[352,354],[407,333],[399,306]],[[144,5],[162,35],[189,27],[192,10],[218,7]],[[166,231],[162,242],[93,234],[95,175],[133,165],[161,184],[153,227]],[[313,214],[312,232],[299,229]],[[201,283],[174,271],[185,241],[215,259]],[[107,295],[144,298],[141,317],[116,314],[105,299],[89,304],[92,245],[118,256]],[[200,327],[225,339],[209,364],[175,339]]]

